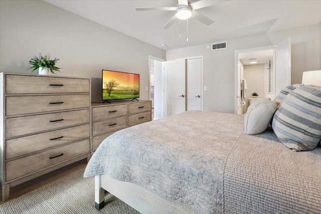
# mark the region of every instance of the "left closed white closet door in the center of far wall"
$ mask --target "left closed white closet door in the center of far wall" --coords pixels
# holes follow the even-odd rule
[[[164,116],[186,111],[185,59],[164,62]]]

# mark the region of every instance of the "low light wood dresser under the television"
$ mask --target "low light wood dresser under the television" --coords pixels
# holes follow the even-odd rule
[[[114,132],[139,123],[151,121],[151,101],[112,101],[111,104],[92,103],[92,151]]]

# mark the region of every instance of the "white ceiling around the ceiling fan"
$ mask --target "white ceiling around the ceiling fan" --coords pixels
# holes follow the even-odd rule
[[[248,35],[268,33],[321,22],[321,1],[215,1],[213,6],[197,12],[215,21],[206,26],[194,19],[165,24],[175,11],[135,11],[136,7],[176,7],[177,0],[44,0],[76,15],[129,35],[164,50],[211,44]],[[209,0],[210,1],[210,0]],[[190,3],[197,1],[189,1]],[[161,46],[166,44],[166,46]]]

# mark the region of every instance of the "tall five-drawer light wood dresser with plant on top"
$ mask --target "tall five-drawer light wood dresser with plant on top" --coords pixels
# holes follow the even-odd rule
[[[0,73],[0,182],[10,187],[90,158],[89,78]]]

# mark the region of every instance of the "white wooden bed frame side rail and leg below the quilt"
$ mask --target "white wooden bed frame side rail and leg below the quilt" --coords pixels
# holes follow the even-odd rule
[[[98,210],[105,205],[105,190],[143,214],[196,213],[187,207],[166,200],[138,185],[115,180],[107,174],[95,176],[95,207]]]

